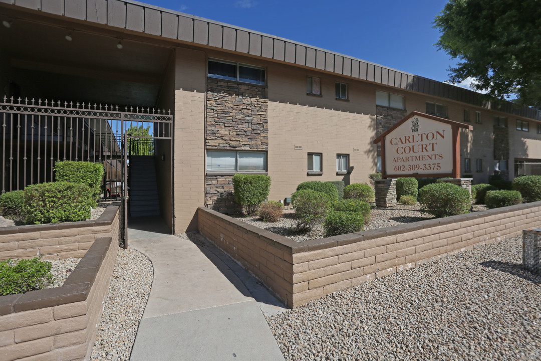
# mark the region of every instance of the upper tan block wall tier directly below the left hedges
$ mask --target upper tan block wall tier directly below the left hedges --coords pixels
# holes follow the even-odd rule
[[[118,206],[109,206],[94,221],[0,228],[0,260],[33,258],[43,260],[81,258],[96,238],[118,239]]]

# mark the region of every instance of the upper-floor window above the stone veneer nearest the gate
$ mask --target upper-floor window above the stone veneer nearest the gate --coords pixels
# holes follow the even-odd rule
[[[208,76],[245,83],[265,84],[265,69],[226,60],[209,59]]]

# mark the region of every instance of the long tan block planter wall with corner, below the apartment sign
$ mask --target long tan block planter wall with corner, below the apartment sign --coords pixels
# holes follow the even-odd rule
[[[296,307],[364,281],[541,226],[541,201],[295,242],[208,208],[201,234]]]

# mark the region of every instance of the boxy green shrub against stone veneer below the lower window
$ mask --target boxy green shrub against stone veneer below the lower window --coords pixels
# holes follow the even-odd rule
[[[235,174],[233,176],[233,195],[242,206],[243,212],[253,214],[269,196],[271,177],[263,174]]]

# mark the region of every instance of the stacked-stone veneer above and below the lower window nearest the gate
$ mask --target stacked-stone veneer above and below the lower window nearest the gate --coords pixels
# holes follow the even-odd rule
[[[268,150],[267,89],[207,78],[207,149]],[[236,213],[233,199],[233,175],[207,173],[207,207],[224,213]]]

